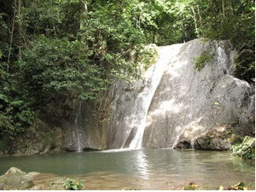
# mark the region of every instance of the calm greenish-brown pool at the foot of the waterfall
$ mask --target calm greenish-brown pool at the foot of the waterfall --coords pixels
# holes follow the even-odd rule
[[[56,176],[84,180],[87,189],[172,189],[190,182],[218,189],[243,181],[254,189],[253,161],[229,152],[140,149],[103,152],[40,154],[1,157],[0,175],[15,166],[24,172],[42,172],[36,182]],[[54,174],[52,174],[54,173]]]

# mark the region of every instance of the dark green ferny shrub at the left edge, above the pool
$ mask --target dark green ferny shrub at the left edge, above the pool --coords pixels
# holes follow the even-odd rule
[[[34,113],[29,103],[22,99],[14,76],[6,72],[6,65],[0,61],[0,139],[15,136],[32,125]],[[9,146],[11,147],[11,146]]]

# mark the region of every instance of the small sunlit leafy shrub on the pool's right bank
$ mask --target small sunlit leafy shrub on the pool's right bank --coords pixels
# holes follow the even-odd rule
[[[232,145],[232,154],[242,159],[255,159],[255,138],[245,137],[242,143]]]

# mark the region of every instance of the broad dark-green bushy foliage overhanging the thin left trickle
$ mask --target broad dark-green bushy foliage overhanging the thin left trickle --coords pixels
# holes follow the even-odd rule
[[[20,84],[34,104],[44,105],[56,96],[94,99],[106,88],[102,68],[90,63],[91,51],[80,41],[38,38],[24,51]]]

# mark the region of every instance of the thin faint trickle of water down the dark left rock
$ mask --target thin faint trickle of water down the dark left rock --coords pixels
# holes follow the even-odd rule
[[[81,110],[82,110],[82,102],[79,102],[79,108],[75,115],[74,119],[74,127],[73,127],[73,143],[76,146],[76,151],[82,152],[82,132],[81,132]]]

